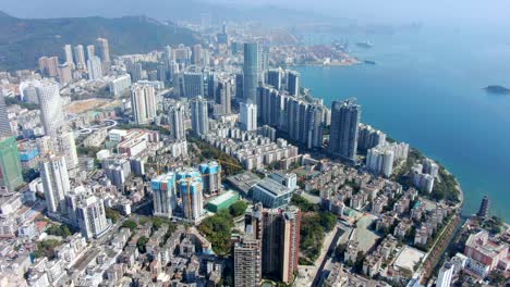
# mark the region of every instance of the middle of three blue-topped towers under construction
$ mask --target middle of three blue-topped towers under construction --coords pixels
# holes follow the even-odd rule
[[[204,183],[201,173],[195,169],[184,169],[177,173],[177,183],[182,199],[184,217],[192,222],[197,221],[204,212],[202,201]]]

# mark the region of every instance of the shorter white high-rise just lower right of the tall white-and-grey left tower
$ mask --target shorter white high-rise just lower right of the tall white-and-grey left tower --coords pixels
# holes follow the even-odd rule
[[[105,203],[96,196],[88,196],[78,203],[76,220],[85,238],[98,237],[110,227],[106,217]]]

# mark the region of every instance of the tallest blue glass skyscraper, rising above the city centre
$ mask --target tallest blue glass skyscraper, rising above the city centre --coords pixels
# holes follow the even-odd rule
[[[243,65],[243,97],[244,102],[257,103],[257,87],[259,80],[259,59],[258,43],[244,43],[244,65]]]

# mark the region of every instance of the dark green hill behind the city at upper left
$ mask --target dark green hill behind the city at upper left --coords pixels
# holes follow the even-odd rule
[[[146,16],[25,20],[0,11],[0,71],[34,68],[41,55],[63,59],[63,46],[107,38],[112,54],[148,52],[197,42],[193,32]]]

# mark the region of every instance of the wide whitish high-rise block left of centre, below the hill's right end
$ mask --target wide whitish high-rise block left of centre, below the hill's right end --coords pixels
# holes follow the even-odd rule
[[[156,116],[156,92],[154,87],[135,84],[131,88],[133,120],[138,125],[149,124]]]

